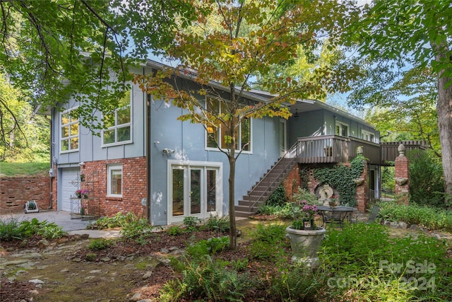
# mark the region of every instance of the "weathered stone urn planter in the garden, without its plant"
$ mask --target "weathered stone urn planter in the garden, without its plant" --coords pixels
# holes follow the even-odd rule
[[[292,226],[285,229],[286,237],[290,239],[292,248],[292,262],[304,262],[315,267],[319,262],[317,252],[325,237],[325,228],[317,227],[315,230],[296,230]]]

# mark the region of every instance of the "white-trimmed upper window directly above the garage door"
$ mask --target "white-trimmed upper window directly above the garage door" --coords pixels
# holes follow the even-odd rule
[[[78,151],[78,119],[71,116],[71,110],[60,114],[60,152]]]

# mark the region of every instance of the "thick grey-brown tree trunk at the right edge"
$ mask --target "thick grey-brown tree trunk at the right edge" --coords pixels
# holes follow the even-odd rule
[[[436,55],[436,61],[444,62],[443,49]],[[439,141],[441,142],[442,163],[444,171],[444,190],[446,202],[452,199],[452,85],[446,87],[450,78],[440,72],[438,79],[438,102],[436,112],[438,114]]]

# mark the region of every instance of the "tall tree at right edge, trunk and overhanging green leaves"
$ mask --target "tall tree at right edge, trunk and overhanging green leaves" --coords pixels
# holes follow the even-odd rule
[[[409,63],[436,76],[439,140],[445,190],[452,196],[452,36],[450,0],[376,0],[347,33],[371,59]]]

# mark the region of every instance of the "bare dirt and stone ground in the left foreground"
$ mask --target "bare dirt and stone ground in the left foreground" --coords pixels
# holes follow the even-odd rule
[[[241,259],[256,223],[237,221],[242,231],[239,250],[222,252],[222,257]],[[90,240],[81,236],[49,240],[47,246],[40,246],[39,236],[29,238],[25,244],[22,240],[1,242],[0,301],[153,299],[162,285],[175,277],[167,265],[169,256],[180,255],[189,243],[218,235],[196,231],[169,236],[160,232],[145,245],[128,242],[97,251],[88,250]]]

